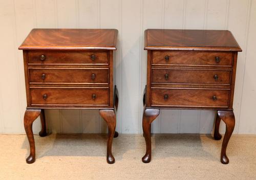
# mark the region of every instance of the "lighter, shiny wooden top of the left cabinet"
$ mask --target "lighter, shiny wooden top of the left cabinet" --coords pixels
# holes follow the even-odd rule
[[[116,29],[32,29],[20,50],[116,50]]]

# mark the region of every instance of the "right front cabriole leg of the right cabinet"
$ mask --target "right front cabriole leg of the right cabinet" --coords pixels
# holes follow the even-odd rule
[[[235,124],[234,114],[233,114],[233,111],[218,110],[218,115],[226,124],[226,132],[223,138],[222,148],[221,148],[221,163],[228,164],[229,160],[226,155],[226,149],[227,149],[228,141],[234,130],[234,124]]]

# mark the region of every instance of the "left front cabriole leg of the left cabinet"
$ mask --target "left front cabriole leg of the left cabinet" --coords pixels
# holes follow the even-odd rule
[[[33,136],[32,124],[40,114],[41,109],[27,109],[24,115],[24,127],[30,146],[30,154],[26,159],[28,164],[35,162],[35,140]]]

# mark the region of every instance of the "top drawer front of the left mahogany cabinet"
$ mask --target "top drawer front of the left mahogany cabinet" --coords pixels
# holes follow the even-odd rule
[[[108,64],[106,51],[29,51],[28,63],[36,64]]]

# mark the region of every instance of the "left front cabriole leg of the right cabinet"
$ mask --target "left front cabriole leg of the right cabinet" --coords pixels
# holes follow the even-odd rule
[[[158,117],[160,109],[145,109],[142,120],[143,134],[146,141],[146,153],[142,158],[143,163],[151,161],[151,123]]]

